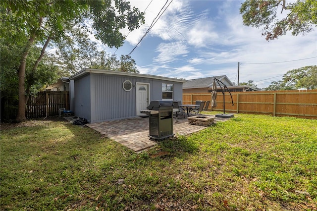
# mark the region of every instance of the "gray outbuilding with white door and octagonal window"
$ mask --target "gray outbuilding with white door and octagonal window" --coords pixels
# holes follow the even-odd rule
[[[84,69],[71,76],[75,115],[90,123],[145,115],[151,101],[182,101],[184,80],[155,75]]]

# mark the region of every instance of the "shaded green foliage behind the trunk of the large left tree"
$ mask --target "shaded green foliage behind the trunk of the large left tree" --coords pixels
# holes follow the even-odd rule
[[[20,55],[23,46],[15,43],[0,42],[0,87],[1,87],[1,120],[14,118],[18,105],[18,75]],[[67,72],[58,65],[59,60],[46,53],[38,67],[33,65],[41,53],[41,48],[32,46],[26,60],[25,89],[26,93],[36,94],[44,89],[46,84],[54,83]]]

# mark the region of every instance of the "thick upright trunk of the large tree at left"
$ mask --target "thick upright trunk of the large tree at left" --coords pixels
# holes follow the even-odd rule
[[[19,104],[18,104],[18,113],[16,115],[16,121],[25,121],[25,104],[26,104],[26,96],[25,96],[25,67],[26,67],[26,58],[30,52],[30,48],[33,45],[35,40],[35,35],[32,34],[25,50],[22,54],[21,63],[18,71],[18,77],[19,77]]]

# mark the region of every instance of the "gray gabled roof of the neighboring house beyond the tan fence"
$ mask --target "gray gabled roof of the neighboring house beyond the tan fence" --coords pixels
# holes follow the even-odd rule
[[[229,80],[227,76],[220,75],[207,78],[187,80],[187,83],[183,84],[183,89],[212,88],[213,78],[220,80],[226,86],[233,86],[233,83]]]

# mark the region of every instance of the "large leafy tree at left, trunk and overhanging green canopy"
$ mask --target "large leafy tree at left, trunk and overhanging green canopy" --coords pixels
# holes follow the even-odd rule
[[[31,72],[37,70],[49,45],[73,40],[78,35],[94,33],[109,47],[120,47],[125,39],[120,29],[130,31],[144,23],[144,14],[131,8],[125,0],[1,0],[0,39],[21,46],[18,74],[18,114],[16,120],[25,120],[26,66],[30,50],[40,47],[37,59],[31,61]],[[93,30],[86,26],[92,23]]]

